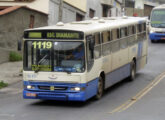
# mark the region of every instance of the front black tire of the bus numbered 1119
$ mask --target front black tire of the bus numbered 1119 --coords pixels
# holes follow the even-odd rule
[[[97,94],[95,96],[96,100],[101,99],[101,97],[103,96],[103,92],[104,92],[104,82],[103,82],[103,78],[99,77],[99,81],[98,81],[98,87],[97,87]]]

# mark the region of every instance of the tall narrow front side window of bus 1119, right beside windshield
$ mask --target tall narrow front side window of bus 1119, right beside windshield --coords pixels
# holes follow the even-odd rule
[[[92,35],[89,35],[86,37],[87,39],[87,70],[90,71],[93,63],[94,63],[94,58],[93,58],[93,50],[90,49],[90,42],[94,37]]]

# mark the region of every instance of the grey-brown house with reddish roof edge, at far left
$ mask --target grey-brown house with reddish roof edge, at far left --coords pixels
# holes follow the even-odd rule
[[[25,29],[47,25],[48,15],[25,6],[13,6],[0,11],[0,63],[17,51],[18,40]]]

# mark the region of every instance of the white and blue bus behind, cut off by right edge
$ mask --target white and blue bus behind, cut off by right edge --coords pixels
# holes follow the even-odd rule
[[[149,29],[151,42],[165,40],[165,4],[152,10]]]

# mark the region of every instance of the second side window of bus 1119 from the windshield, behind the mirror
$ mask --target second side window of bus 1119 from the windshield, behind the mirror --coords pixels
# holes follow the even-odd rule
[[[94,35],[95,47],[94,47],[94,58],[98,59],[101,56],[101,40],[100,33]]]

